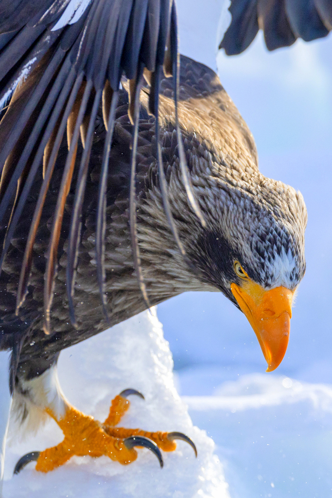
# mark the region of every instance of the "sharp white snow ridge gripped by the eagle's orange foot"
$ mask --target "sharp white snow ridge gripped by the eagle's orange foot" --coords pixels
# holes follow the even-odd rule
[[[11,444],[6,450],[4,498],[94,497],[109,498],[228,498],[227,484],[214,442],[193,426],[187,407],[174,386],[173,360],[155,310],[121,324],[63,351],[58,362],[60,384],[77,408],[104,420],[111,399],[133,387],[145,400],[130,396],[123,427],[182,431],[193,438],[192,448],[179,441],[172,453],[163,453],[164,468],[146,449],[128,466],[107,457],[74,457],[63,467],[41,474],[34,464],[12,477],[23,454],[58,444],[62,432],[53,420],[36,436]]]

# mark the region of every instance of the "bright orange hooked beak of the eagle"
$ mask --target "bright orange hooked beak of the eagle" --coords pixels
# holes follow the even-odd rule
[[[265,290],[252,280],[230,286],[239,307],[253,328],[264,358],[266,372],[275,370],[288,346],[294,291],[286,287]]]

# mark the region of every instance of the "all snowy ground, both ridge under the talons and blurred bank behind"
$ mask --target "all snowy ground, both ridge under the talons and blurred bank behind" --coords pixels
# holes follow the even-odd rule
[[[60,442],[62,433],[50,421],[22,443],[13,435],[3,498],[332,497],[332,386],[201,366],[175,374],[175,383],[187,392],[204,385],[212,394],[181,399],[172,368],[161,324],[144,312],[63,351],[59,377],[69,400],[100,420],[123,388],[143,391],[145,401],[132,397],[121,425],[183,431],[195,440],[197,460],[179,442],[176,452],[164,453],[163,469],[139,450],[127,467],[106,457],[73,458],[47,475],[31,463],[12,477],[24,453]],[[237,379],[224,380],[232,375]]]

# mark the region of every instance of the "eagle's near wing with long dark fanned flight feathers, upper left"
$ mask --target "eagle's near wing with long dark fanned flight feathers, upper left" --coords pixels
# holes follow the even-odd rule
[[[129,80],[129,117],[136,124],[132,145],[134,176],[142,78],[144,75],[151,85],[149,109],[151,114],[157,115],[163,69],[166,75],[173,74],[175,84],[178,84],[174,0],[0,0],[0,229],[4,234],[0,269],[17,222],[24,216],[24,204],[39,168],[42,168],[44,179],[33,218],[27,220],[30,232],[20,268],[16,313],[26,295],[38,224],[62,138],[67,133],[68,154],[53,217],[45,273],[45,333],[49,333],[66,198],[74,168],[79,168],[67,264],[67,293],[75,325],[72,306],[75,265],[99,105],[102,103],[108,131],[102,159],[96,236],[97,273],[105,303],[105,190],[120,79],[124,75]],[[177,91],[174,94],[176,98]],[[84,153],[76,164],[80,137]],[[183,167],[185,169],[185,164]],[[190,192],[190,184],[187,189]],[[139,277],[134,199],[133,190],[131,229]],[[171,214],[169,219],[172,221]],[[144,282],[139,280],[144,295]]]

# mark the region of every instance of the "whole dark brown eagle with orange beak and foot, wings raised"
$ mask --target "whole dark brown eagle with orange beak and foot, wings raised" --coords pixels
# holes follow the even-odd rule
[[[265,3],[279,5],[232,1],[236,50]],[[59,353],[181,292],[220,291],[273,371],[305,273],[301,193],[259,172],[218,76],[179,56],[174,0],[1,0],[0,106],[3,406],[21,421],[38,408],[64,433],[15,472],[73,455],[129,464],[137,446],[162,466],[176,439],[196,452],[176,431],[118,427],[127,396],[142,396],[133,388],[104,422],[79,412],[59,385]]]

